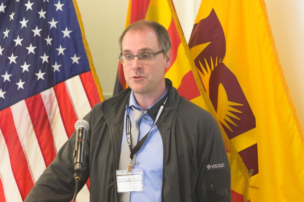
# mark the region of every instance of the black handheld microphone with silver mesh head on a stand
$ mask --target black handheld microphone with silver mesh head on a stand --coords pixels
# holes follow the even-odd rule
[[[89,130],[89,123],[85,120],[78,120],[75,123],[76,142],[74,150],[74,178],[81,178],[81,171],[85,165],[85,136]]]

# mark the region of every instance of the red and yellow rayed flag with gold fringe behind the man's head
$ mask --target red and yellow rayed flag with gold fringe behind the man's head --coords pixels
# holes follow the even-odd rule
[[[233,201],[243,201],[243,193],[247,193],[245,187],[248,188],[249,184],[249,175],[247,174],[248,170],[242,162],[239,154],[231,146],[231,143],[226,136],[224,129],[221,126],[219,119],[217,118],[217,115],[212,107],[209,96],[206,91],[203,90],[202,81],[198,76],[195,78],[193,75],[193,73],[197,74],[197,70],[192,59],[188,44],[181,30],[181,26],[179,24],[172,1],[130,0],[126,18],[126,27],[140,19],[154,20],[167,28],[172,43],[172,62],[170,68],[166,70],[165,77],[171,79],[173,86],[178,89],[179,94],[192,101],[193,103],[199,105],[200,107],[210,111],[217,119],[223,134],[226,148],[230,151],[228,154],[233,154],[230,155],[230,166],[231,169],[234,170],[234,177],[238,180],[232,179],[232,183],[240,184],[242,189],[241,192],[238,191],[241,194],[233,195]],[[127,88],[127,84],[123,76],[122,65],[119,63],[114,94],[119,93],[125,88]],[[232,193],[237,193],[237,190],[232,190]]]

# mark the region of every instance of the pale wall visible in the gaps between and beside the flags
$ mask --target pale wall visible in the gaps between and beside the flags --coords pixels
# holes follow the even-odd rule
[[[119,54],[118,38],[125,27],[128,0],[77,0],[85,34],[104,96],[113,93]],[[173,0],[188,40],[199,0]],[[298,116],[304,124],[304,2],[265,0],[278,54]]]

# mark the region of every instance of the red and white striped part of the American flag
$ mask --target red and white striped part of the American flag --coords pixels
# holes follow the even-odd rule
[[[1,202],[26,198],[75,131],[75,122],[98,102],[92,73],[87,72],[0,111]],[[88,187],[89,181],[78,202],[89,201]]]

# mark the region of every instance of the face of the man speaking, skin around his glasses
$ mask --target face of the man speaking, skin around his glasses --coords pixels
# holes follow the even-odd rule
[[[160,51],[156,35],[151,29],[128,31],[123,37],[122,54],[139,55],[142,53],[155,53]],[[172,53],[164,56],[163,53],[155,55],[154,61],[144,62],[137,57],[132,63],[123,64],[124,76],[127,84],[134,94],[158,96],[165,89],[165,68],[171,63]]]

